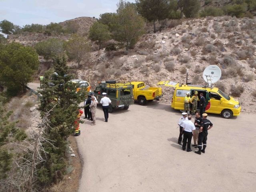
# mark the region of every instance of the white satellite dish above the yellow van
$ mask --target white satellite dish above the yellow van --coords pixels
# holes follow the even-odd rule
[[[216,65],[210,65],[205,68],[203,73],[203,78],[208,86],[211,86],[212,83],[216,83],[221,77],[221,70]]]

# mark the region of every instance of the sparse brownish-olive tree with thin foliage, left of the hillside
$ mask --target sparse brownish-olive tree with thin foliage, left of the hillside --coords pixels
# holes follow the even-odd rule
[[[65,43],[66,52],[71,60],[75,60],[80,66],[80,62],[88,52],[91,44],[87,38],[74,34],[68,42]]]

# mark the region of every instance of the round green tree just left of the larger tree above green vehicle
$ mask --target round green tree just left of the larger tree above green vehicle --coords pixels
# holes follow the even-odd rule
[[[89,38],[92,41],[96,41],[101,49],[102,42],[110,39],[110,32],[108,26],[99,22],[95,22],[89,31]]]

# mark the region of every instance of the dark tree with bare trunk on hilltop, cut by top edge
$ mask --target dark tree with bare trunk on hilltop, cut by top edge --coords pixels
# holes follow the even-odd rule
[[[149,22],[154,23],[156,32],[156,20],[168,18],[170,14],[170,0],[136,0],[138,12]]]

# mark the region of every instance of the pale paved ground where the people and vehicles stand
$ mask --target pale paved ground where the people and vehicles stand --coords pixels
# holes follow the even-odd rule
[[[254,191],[255,114],[232,119],[210,114],[214,127],[202,155],[177,144],[180,116],[170,105],[151,102],[116,110],[106,123],[98,106],[96,126],[86,120],[76,137],[84,162],[78,191]]]

